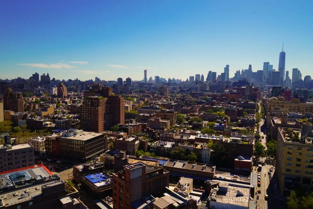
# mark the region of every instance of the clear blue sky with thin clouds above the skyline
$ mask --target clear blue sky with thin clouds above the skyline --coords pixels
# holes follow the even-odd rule
[[[286,68],[313,77],[313,1],[0,1],[0,78],[186,80]]]

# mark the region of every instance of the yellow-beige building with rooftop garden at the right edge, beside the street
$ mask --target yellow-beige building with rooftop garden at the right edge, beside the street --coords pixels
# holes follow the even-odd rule
[[[278,128],[276,172],[281,194],[313,185],[312,136],[310,123],[304,123],[302,130]]]

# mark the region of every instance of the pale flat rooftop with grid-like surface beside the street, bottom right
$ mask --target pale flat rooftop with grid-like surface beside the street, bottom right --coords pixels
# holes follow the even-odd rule
[[[214,181],[212,181],[213,183]],[[236,206],[249,206],[249,188],[237,187],[231,183],[219,182],[219,187],[211,190],[210,193],[210,204],[214,205],[216,202],[236,205]]]

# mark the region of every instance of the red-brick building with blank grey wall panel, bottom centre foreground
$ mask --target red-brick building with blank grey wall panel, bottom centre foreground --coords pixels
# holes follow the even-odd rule
[[[126,165],[113,174],[113,208],[137,208],[132,204],[146,194],[160,195],[168,186],[169,172],[162,167],[144,163]]]

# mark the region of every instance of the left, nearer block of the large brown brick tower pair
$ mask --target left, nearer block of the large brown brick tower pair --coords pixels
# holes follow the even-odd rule
[[[103,97],[84,98],[83,105],[80,108],[80,124],[83,130],[96,133],[104,131],[105,100]]]

